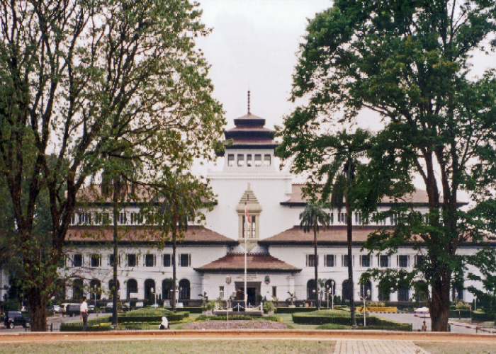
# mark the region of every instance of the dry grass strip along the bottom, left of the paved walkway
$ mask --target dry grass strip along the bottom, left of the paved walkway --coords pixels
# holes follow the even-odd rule
[[[111,341],[4,344],[0,353],[332,353],[333,341]]]

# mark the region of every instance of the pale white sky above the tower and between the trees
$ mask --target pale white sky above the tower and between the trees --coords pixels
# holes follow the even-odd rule
[[[211,65],[213,96],[223,105],[227,129],[247,113],[248,89],[252,114],[265,118],[266,127],[282,125],[294,108],[288,98],[308,18],[330,6],[329,0],[200,0],[202,22],[213,32],[196,43]],[[496,67],[495,59],[494,53],[477,53],[473,75]],[[371,112],[361,113],[357,122],[372,130],[381,125]]]

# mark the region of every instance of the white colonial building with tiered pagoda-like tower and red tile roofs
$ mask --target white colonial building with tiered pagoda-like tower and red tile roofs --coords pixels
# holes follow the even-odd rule
[[[200,295],[210,299],[227,299],[244,290],[244,244],[247,250],[247,295],[250,303],[257,298],[280,301],[294,293],[298,301],[315,301],[314,264],[318,263],[319,278],[325,279],[335,295],[346,297],[347,249],[346,215],[329,210],[332,226],[317,234],[318,257],[314,258],[313,234],[298,227],[300,212],[305,207],[301,188],[294,184],[290,173],[280,171],[274,156],[274,132],[264,127],[265,120],[251,113],[235,119],[235,128],[225,133],[233,144],[225,150],[222,171],[209,171],[208,178],[218,202],[206,214],[203,225],[188,229],[184,241],[177,246],[177,280],[179,302],[186,306],[197,304]],[[416,208],[427,212],[427,193],[417,190],[409,195]],[[383,201],[379,210],[390,207]],[[96,205],[95,210],[106,205]],[[247,229],[245,210],[252,219]],[[110,213],[110,210],[109,210]],[[101,213],[100,213],[101,215]],[[364,225],[361,215],[354,221],[354,281],[368,268],[411,269],[423,256],[422,251],[411,246],[400,247],[395,256],[360,251],[368,234],[378,227],[394,227],[394,217],[383,222]],[[120,298],[147,299],[157,293],[162,299],[171,298],[171,244],[158,247],[152,237],[147,237],[147,227],[142,225],[139,205],[129,205],[120,212],[119,223],[128,225],[119,244],[118,280]],[[111,229],[102,229],[101,217],[91,210],[77,212],[69,231],[67,270],[74,275],[73,284],[64,289],[67,298],[77,298],[95,288],[103,290],[101,297],[108,297],[112,287]],[[144,237],[141,237],[144,236]],[[246,237],[246,239],[245,239]],[[472,253],[470,246],[461,247],[459,253]],[[68,273],[66,273],[68,272]],[[226,276],[232,283],[227,285]],[[334,285],[334,286],[333,286]],[[466,281],[464,287],[470,285]],[[152,290],[153,289],[153,290]],[[368,284],[371,300],[378,300],[377,284]],[[359,299],[355,285],[353,296]],[[458,297],[471,301],[463,288]],[[98,296],[98,295],[96,295]],[[390,300],[408,301],[414,296],[411,289],[393,293]]]

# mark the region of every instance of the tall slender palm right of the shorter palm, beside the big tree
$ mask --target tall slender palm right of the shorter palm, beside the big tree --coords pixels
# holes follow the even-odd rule
[[[339,132],[335,137],[329,137],[329,147],[332,147],[334,159],[330,164],[322,167],[322,175],[327,175],[327,182],[322,188],[322,200],[329,200],[331,207],[337,208],[341,214],[342,207],[346,210],[346,244],[348,246],[348,280],[349,280],[349,307],[351,310],[351,325],[356,326],[354,282],[353,282],[353,219],[352,219],[352,192],[356,169],[360,164],[359,158],[364,156],[371,133],[368,130],[357,129],[354,134],[346,130]],[[338,214],[338,215],[339,215]]]

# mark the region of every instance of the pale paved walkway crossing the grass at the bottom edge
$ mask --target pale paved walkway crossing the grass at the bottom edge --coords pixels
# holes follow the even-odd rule
[[[334,354],[416,354],[427,353],[412,341],[342,341],[336,342]]]

